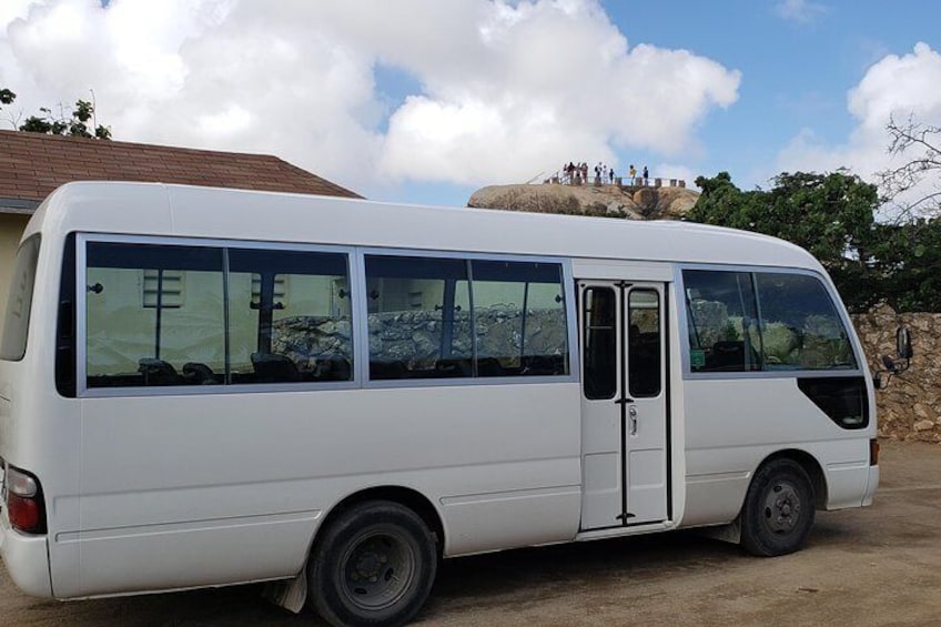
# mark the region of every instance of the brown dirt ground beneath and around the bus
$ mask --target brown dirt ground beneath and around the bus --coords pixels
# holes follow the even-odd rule
[[[678,533],[445,562],[419,625],[939,625],[941,446],[882,444],[864,509],[818,513],[771,559]],[[0,569],[0,625],[321,625],[255,586],[74,603],[32,599]]]

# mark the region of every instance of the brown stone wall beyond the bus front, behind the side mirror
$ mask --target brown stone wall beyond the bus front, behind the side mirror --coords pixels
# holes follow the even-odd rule
[[[935,361],[941,314],[897,314],[882,306],[853,315],[852,320],[873,373],[884,370],[882,355],[894,356],[896,328],[904,325],[912,334],[911,368],[893,376],[886,388],[876,391],[879,435],[941,442],[941,366]]]

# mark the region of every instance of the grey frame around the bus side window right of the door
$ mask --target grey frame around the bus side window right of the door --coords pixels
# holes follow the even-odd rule
[[[742,272],[748,273],[751,276],[752,289],[755,289],[756,275],[757,274],[800,274],[805,276],[810,276],[816,279],[826,291],[827,295],[830,297],[830,304],[833,306],[834,312],[840,318],[840,322],[843,324],[843,328],[848,334],[856,333],[854,326],[852,325],[852,321],[849,317],[849,313],[846,310],[846,306],[842,304],[842,299],[840,299],[839,293],[836,291],[836,287],[827,281],[826,276],[820,272],[801,269],[801,267],[781,267],[781,266],[765,266],[765,265],[740,265],[740,264],[704,264],[704,263],[677,263],[675,265],[675,274],[674,274],[674,284],[677,286],[677,297],[679,302],[677,304],[677,310],[679,314],[679,328],[678,328],[678,337],[680,341],[680,363],[682,366],[682,378],[684,381],[709,381],[709,380],[730,380],[730,378],[806,378],[806,377],[849,377],[849,376],[862,376],[867,374],[867,361],[866,356],[860,354],[860,350],[857,342],[852,342],[851,338],[848,337],[847,342],[852,350],[853,357],[856,357],[857,366],[854,368],[841,368],[841,370],[812,370],[812,368],[793,368],[793,370],[761,370],[761,371],[747,371],[747,372],[694,372],[691,364],[691,355],[690,355],[690,346],[689,346],[689,332],[690,332],[690,321],[689,321],[689,311],[686,305],[686,283],[684,282],[682,273],[687,270],[699,270],[707,272]],[[760,307],[760,303],[758,303],[758,295],[756,294],[756,304]],[[759,311],[760,315],[760,311]]]

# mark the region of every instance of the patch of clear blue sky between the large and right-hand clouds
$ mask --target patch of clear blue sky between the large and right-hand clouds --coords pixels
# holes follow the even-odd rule
[[[782,13],[786,3],[747,0],[651,2],[642,11],[604,4],[637,43],[686,48],[742,72],[738,101],[704,119],[705,153],[689,164],[705,175],[727,170],[748,186],[768,185],[768,165],[802,131],[846,142],[856,127],[848,92],[888,54],[910,53],[920,41],[937,48],[941,18],[941,4],[929,1],[795,2],[793,13]]]

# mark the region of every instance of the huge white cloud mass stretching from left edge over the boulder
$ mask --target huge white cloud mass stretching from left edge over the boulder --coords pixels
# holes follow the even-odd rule
[[[697,148],[740,74],[629,47],[596,0],[3,0],[0,87],[115,139],[277,154],[357,191]],[[418,88],[389,110],[378,64]]]

